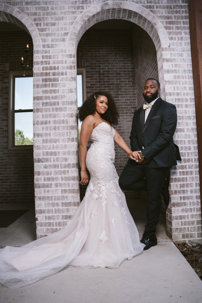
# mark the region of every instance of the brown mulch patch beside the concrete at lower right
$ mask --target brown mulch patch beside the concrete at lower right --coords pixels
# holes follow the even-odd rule
[[[202,280],[202,244],[177,243],[175,245]]]

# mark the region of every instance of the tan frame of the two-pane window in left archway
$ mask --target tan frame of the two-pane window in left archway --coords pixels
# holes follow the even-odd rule
[[[24,78],[24,71],[9,72],[9,91],[8,91],[8,149],[33,150],[33,145],[15,145],[15,113],[33,112],[32,109],[15,110],[15,78]],[[33,77],[33,71],[26,71],[25,77]]]

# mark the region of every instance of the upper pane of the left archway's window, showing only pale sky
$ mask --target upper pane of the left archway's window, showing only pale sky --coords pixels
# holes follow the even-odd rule
[[[15,78],[15,110],[33,108],[33,77]]]

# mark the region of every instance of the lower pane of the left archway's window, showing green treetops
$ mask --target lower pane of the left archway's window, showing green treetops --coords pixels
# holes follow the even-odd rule
[[[33,112],[15,113],[15,145],[33,145]]]

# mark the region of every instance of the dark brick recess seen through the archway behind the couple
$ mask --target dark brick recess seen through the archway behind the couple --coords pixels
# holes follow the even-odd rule
[[[76,57],[77,68],[85,68],[87,96],[94,91],[105,90],[114,97],[120,114],[115,128],[130,145],[132,117],[134,111],[144,103],[144,81],[147,78],[160,80],[157,50],[152,38],[141,26],[131,21],[105,20],[84,32],[78,42]],[[117,145],[115,153],[115,167],[120,175],[128,156]],[[85,189],[86,187],[80,186],[81,200]],[[142,192],[125,192],[125,195],[142,235],[146,224],[146,195]],[[157,237],[164,241],[169,239],[165,221],[165,209],[162,207]]]

